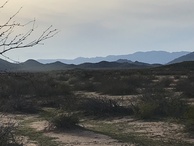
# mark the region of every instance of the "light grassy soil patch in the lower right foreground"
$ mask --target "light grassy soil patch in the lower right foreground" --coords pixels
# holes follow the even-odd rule
[[[117,125],[122,133],[134,133],[153,140],[185,141],[194,144],[194,138],[184,131],[184,125],[177,123],[165,121],[145,122],[130,117],[104,121],[103,123]]]

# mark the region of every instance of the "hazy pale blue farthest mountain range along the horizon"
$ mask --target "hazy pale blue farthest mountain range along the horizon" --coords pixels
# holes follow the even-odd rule
[[[79,57],[76,59],[40,59],[38,60],[41,63],[51,63],[60,61],[66,64],[82,64],[82,63],[97,63],[101,61],[117,61],[119,59],[127,59],[133,62],[145,62],[149,64],[166,64],[175,58],[186,55],[190,52],[182,51],[182,52],[165,52],[165,51],[149,51],[149,52],[136,52],[128,55],[109,55],[107,57],[93,57],[93,58],[83,58]]]

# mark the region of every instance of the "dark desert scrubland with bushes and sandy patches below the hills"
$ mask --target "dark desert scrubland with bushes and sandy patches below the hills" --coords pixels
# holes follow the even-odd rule
[[[0,74],[0,145],[192,146],[191,65]]]

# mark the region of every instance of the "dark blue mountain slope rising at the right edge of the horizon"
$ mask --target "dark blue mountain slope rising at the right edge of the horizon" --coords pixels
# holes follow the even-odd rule
[[[187,55],[183,55],[181,57],[178,57],[172,61],[170,61],[168,64],[174,64],[174,63],[180,63],[184,61],[194,61],[194,52],[189,53]]]

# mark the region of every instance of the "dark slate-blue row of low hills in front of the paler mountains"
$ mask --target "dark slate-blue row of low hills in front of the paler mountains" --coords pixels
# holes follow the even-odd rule
[[[42,71],[56,71],[56,70],[67,70],[67,69],[135,69],[135,68],[148,68],[159,66],[142,63],[132,62],[129,60],[118,60],[115,62],[101,61],[98,63],[83,63],[79,65],[64,64],[62,62],[54,62],[48,64],[42,64],[35,60],[27,60],[20,64],[14,64],[0,59],[0,72],[42,72]]]

